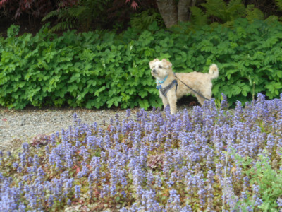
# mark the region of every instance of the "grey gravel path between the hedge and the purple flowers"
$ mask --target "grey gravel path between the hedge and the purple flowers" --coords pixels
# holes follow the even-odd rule
[[[73,114],[76,112],[82,123],[102,124],[118,113],[123,119],[126,110],[87,110],[87,109],[37,109],[8,110],[0,107],[0,150],[15,151],[23,142],[31,141],[40,134],[52,134],[73,125]],[[131,110],[134,115],[137,109]]]

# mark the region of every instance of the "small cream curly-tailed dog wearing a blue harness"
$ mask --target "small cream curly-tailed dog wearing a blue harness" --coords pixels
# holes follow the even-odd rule
[[[154,59],[149,62],[151,74],[156,78],[157,89],[164,107],[170,106],[171,114],[176,113],[176,102],[183,95],[195,95],[201,105],[212,98],[212,79],[219,77],[216,64],[209,66],[209,73],[173,73],[171,62],[166,59]],[[187,85],[185,85],[185,84]],[[188,88],[188,86],[190,88]],[[192,90],[191,90],[192,88]],[[195,90],[197,93],[195,93]],[[198,94],[200,93],[200,95]],[[202,96],[204,96],[204,98]]]

